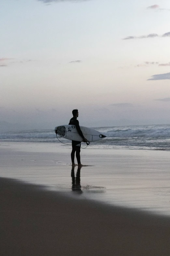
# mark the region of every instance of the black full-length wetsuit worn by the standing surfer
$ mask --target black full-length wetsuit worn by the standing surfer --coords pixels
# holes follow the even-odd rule
[[[69,125],[75,125],[79,135],[82,137],[82,139],[84,139],[84,135],[83,135],[83,133],[82,133],[82,131],[80,129],[77,117],[72,117],[70,119]],[[78,164],[81,163],[80,162],[80,146],[81,146],[81,141],[72,141],[71,161],[73,163],[74,163],[75,152],[76,152],[76,158],[77,158]]]

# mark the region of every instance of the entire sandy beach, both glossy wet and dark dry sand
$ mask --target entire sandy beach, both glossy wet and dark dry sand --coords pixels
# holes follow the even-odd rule
[[[0,144],[2,256],[170,255],[169,152]]]

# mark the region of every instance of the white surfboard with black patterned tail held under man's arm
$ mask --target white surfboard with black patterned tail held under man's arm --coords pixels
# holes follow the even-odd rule
[[[80,126],[80,129],[89,142],[98,141],[106,137],[101,132],[92,128]],[[56,126],[55,133],[68,140],[82,141],[82,137],[79,135],[75,125]]]

